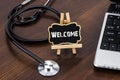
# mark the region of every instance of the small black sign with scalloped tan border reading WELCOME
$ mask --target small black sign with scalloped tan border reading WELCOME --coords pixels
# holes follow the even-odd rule
[[[81,41],[81,26],[76,22],[54,23],[48,28],[49,42],[56,44],[78,43]]]

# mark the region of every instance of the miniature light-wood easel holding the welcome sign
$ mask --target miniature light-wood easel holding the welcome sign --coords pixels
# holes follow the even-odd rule
[[[71,23],[69,12],[66,13],[66,19],[64,19],[64,18],[65,18],[64,13],[61,13],[61,16],[60,16],[60,25],[61,25],[61,27],[62,27],[62,25],[67,25],[67,24]],[[80,34],[80,36],[81,36],[81,34]],[[53,44],[51,46],[51,49],[57,49],[57,55],[61,54],[61,49],[72,49],[72,53],[76,54],[76,48],[82,48],[82,44],[66,43],[66,44]]]

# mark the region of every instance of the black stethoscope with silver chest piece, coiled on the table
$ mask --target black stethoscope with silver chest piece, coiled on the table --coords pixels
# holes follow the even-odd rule
[[[25,39],[25,38],[22,38],[22,37],[16,35],[13,31],[13,29],[16,25],[22,26],[22,25],[31,24],[33,22],[37,22],[37,20],[39,20],[39,18],[41,17],[41,14],[43,14],[46,10],[49,10],[49,11],[55,13],[58,17],[60,17],[60,12],[58,12],[57,10],[48,6],[52,0],[47,0],[47,2],[44,4],[44,6],[34,6],[34,7],[27,8],[27,9],[23,9],[23,7],[26,4],[30,3],[31,1],[32,0],[25,0],[24,2],[17,5],[16,7],[14,7],[11,10],[11,12],[8,15],[8,23],[7,23],[5,32],[11,43],[13,43],[17,48],[22,50],[24,53],[26,53],[28,56],[30,56],[31,58],[33,58],[34,60],[36,60],[39,63],[38,72],[41,75],[54,76],[60,70],[59,65],[55,61],[43,60],[42,58],[40,58],[39,56],[37,56],[36,54],[31,52],[30,50],[26,49],[22,44],[20,44],[20,42],[43,43],[43,42],[47,42],[48,40],[47,39],[43,39],[43,40]],[[20,16],[22,13],[30,11],[30,10],[37,10],[37,11],[30,17],[24,18],[24,17]]]

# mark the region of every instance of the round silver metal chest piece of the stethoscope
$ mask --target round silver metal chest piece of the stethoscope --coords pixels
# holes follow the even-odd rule
[[[59,65],[53,60],[46,60],[38,66],[38,72],[43,76],[54,76],[60,71]]]

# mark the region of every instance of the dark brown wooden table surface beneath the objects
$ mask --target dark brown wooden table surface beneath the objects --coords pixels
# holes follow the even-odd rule
[[[43,59],[52,59],[59,63],[61,70],[54,77],[43,77],[38,71],[38,63],[26,56],[12,44],[9,45],[4,29],[9,11],[23,0],[0,1],[0,80],[120,80],[120,72],[94,69],[93,61],[109,0],[56,0],[52,7],[60,12],[70,12],[71,20],[82,26],[83,48],[77,49],[77,55],[71,50],[62,50],[61,56],[50,44],[25,44],[32,52]],[[36,0],[32,5],[42,5]],[[29,14],[28,14],[29,15]],[[58,22],[56,16],[48,12],[40,21],[29,27],[16,27],[15,32],[27,38],[47,38],[47,28]],[[34,26],[34,27],[33,27]]]

